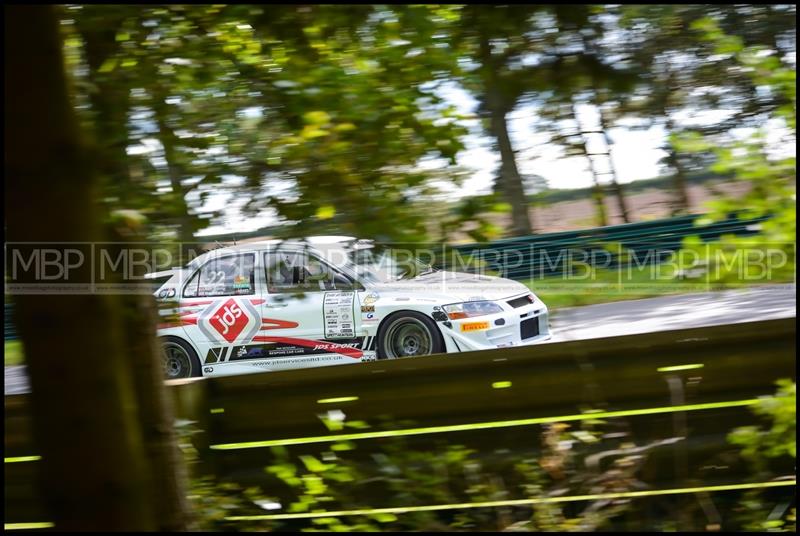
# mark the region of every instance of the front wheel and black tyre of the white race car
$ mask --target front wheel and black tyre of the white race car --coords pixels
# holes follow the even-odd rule
[[[402,311],[378,329],[378,359],[440,354],[444,339],[436,323],[422,313]]]

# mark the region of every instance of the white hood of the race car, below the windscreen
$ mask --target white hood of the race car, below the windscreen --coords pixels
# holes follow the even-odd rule
[[[488,275],[437,271],[413,279],[369,285],[370,290],[404,294],[411,298],[444,300],[449,302],[500,300],[531,292],[517,281]]]

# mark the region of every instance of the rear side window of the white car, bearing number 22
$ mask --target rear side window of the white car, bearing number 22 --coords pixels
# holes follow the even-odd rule
[[[203,298],[254,294],[255,261],[254,253],[211,259],[186,284],[183,297]]]

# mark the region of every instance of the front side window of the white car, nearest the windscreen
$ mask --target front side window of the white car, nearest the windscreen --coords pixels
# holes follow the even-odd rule
[[[352,286],[344,275],[306,252],[267,252],[264,266],[270,293],[320,292]]]

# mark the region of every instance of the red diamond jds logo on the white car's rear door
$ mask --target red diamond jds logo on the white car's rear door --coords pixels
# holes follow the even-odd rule
[[[260,320],[258,311],[249,300],[228,298],[206,307],[197,326],[210,340],[246,343],[258,333]]]

